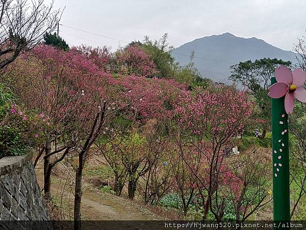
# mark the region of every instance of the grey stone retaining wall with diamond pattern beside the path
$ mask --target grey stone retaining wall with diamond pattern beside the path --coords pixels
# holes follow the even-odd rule
[[[0,159],[0,220],[49,220],[31,155]]]

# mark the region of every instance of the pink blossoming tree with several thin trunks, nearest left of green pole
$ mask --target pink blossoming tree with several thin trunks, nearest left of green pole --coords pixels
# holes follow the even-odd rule
[[[187,94],[176,106],[179,124],[176,143],[190,173],[197,179],[199,192],[202,189],[207,192],[203,219],[210,210],[216,220],[222,220],[226,205],[223,187],[239,189],[241,182],[233,174],[225,152],[232,146],[233,137],[243,129],[251,111],[251,103],[244,93],[223,86]],[[183,146],[189,145],[194,150],[184,151]]]

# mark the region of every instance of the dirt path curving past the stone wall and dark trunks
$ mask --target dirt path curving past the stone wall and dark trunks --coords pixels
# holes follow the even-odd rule
[[[43,188],[43,171],[36,169],[40,188]],[[64,207],[66,219],[73,217],[73,185],[67,180],[52,178],[52,196]],[[103,193],[83,183],[82,219],[84,220],[160,220],[148,209],[121,197]]]

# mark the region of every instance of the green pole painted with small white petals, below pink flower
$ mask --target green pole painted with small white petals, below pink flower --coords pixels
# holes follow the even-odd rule
[[[271,99],[274,222],[290,221],[288,114],[284,102],[285,96]]]

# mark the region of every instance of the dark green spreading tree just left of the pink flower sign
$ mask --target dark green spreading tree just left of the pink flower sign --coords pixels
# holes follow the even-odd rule
[[[259,108],[257,119],[266,121],[262,123],[262,139],[265,138],[267,128],[269,127],[268,121],[271,116],[271,102],[268,97],[268,88],[271,77],[274,76],[275,68],[279,65],[291,66],[291,62],[277,58],[263,58],[255,61],[248,60],[239,62],[230,67],[232,74],[229,79],[242,84],[248,89],[248,94],[254,97]]]

